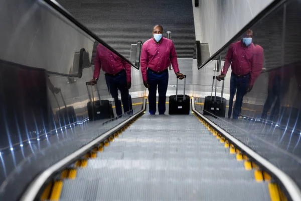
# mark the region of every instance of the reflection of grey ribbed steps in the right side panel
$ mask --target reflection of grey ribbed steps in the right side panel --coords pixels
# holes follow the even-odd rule
[[[300,135],[243,119],[206,117],[284,171],[301,187]]]

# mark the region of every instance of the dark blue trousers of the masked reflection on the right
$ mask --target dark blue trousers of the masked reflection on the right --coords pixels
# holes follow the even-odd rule
[[[242,99],[243,96],[247,93],[247,87],[249,85],[250,75],[246,75],[245,77],[236,77],[231,74],[230,80],[230,99],[229,99],[229,112],[228,117],[231,118],[232,107],[233,107],[233,98],[236,93],[236,100],[234,104],[233,110],[233,119],[238,119],[241,112],[242,107]]]

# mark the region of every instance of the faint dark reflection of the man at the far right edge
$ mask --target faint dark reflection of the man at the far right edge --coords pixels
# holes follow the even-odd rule
[[[267,98],[261,114],[261,119],[267,118],[267,113],[274,103],[269,120],[275,120],[279,114],[281,100],[288,91],[290,78],[299,67],[299,62],[284,65],[276,70],[272,70],[268,76]],[[297,78],[298,80],[298,78]]]

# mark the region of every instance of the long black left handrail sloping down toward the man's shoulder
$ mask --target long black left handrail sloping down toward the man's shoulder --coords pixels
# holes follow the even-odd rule
[[[110,51],[112,51],[114,54],[119,56],[121,59],[129,63],[131,66],[133,66],[136,69],[139,69],[139,67],[132,64],[128,59],[123,57],[121,54],[119,54],[116,50],[114,50],[112,47],[110,47],[107,43],[105,43],[103,40],[101,40],[99,37],[97,37],[93,32],[91,32],[88,28],[86,28],[84,25],[82,25],[80,22],[78,22],[68,11],[66,11],[60,4],[58,4],[54,0],[44,0],[47,4],[49,4],[52,8],[54,8],[57,12],[62,14],[64,17],[66,17],[68,20],[70,20],[73,24],[75,24],[77,27],[79,27],[82,31],[84,31],[86,34],[88,34],[90,37],[92,37],[97,42],[101,43],[103,46],[108,48]],[[58,73],[55,73],[58,74]]]

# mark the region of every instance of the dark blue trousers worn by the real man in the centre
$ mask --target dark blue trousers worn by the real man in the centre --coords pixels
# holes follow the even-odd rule
[[[159,114],[164,114],[166,111],[166,91],[168,87],[168,72],[164,72],[160,75],[147,70],[148,87],[148,105],[149,113],[155,115],[156,113],[156,95],[157,87],[159,93],[158,110]]]

